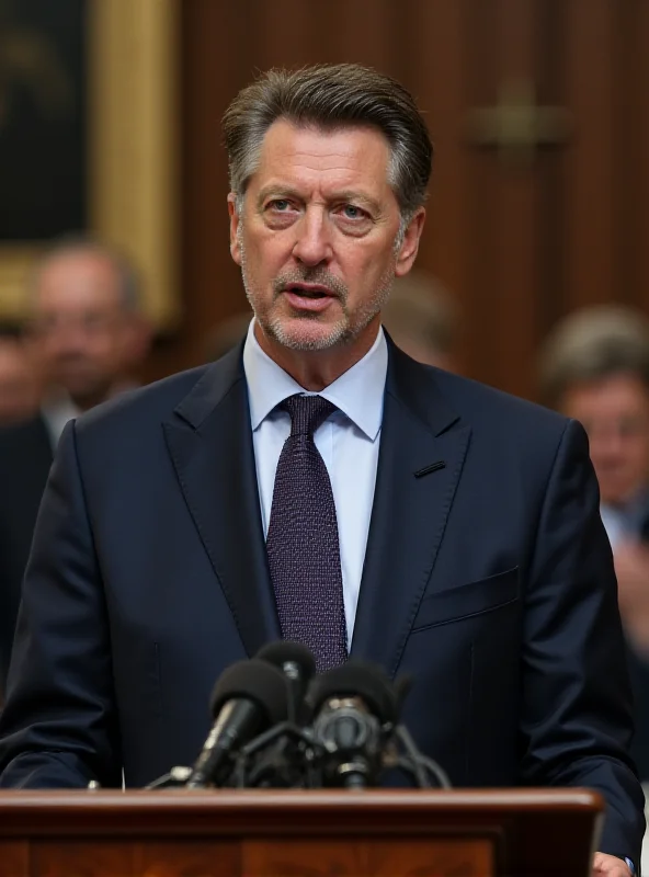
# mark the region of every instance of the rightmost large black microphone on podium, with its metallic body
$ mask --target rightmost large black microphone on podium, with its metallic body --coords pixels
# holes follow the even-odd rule
[[[388,676],[352,658],[317,676],[307,699],[315,739],[329,755],[324,782],[345,788],[376,785],[399,715],[399,695]]]

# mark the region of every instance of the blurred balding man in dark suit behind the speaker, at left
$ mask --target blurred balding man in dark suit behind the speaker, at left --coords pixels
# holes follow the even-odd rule
[[[36,513],[67,421],[132,385],[150,332],[137,276],[93,241],[67,240],[35,266],[30,344],[47,379],[39,411],[0,430],[0,692]]]

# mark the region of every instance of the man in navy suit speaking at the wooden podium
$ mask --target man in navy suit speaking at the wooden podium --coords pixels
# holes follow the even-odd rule
[[[226,113],[255,319],[219,362],[70,423],[25,578],[2,785],[139,786],[191,762],[230,662],[284,636],[414,679],[403,719],[457,785],[588,785],[599,874],[642,795],[583,430],[415,363],[380,327],[432,148],[356,66],[274,71]],[[560,855],[560,853],[558,853]]]

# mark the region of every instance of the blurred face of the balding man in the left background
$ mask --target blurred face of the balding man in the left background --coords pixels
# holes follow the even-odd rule
[[[45,374],[80,408],[106,399],[132,365],[135,315],[110,259],[70,250],[42,267],[34,295],[34,340]]]

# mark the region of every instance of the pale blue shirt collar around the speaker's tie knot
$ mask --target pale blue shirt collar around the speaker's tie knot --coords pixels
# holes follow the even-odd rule
[[[371,441],[383,420],[383,397],[388,369],[388,345],[383,327],[365,356],[319,395],[340,409]],[[296,392],[307,392],[261,349],[254,320],[243,345],[243,371],[250,399],[250,421],[257,430],[269,414]]]

